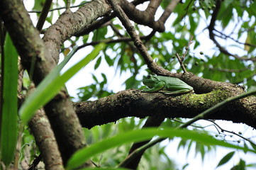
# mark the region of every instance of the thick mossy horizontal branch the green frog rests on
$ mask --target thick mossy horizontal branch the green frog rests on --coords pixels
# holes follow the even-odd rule
[[[73,103],[73,106],[82,126],[92,128],[95,125],[115,122],[128,116],[145,118],[163,115],[165,118],[194,118],[207,108],[243,92],[240,86],[227,83],[223,83],[223,89],[200,95],[167,96],[159,93],[147,94],[139,90],[126,90],[99,98],[97,101]],[[256,128],[255,112],[256,98],[249,96],[233,102],[209,118],[232,120],[234,123],[245,123]]]

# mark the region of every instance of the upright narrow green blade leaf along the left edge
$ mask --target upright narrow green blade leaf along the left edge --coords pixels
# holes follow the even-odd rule
[[[13,160],[17,142],[18,53],[9,34],[4,45],[3,108],[1,120],[1,159],[6,166]]]

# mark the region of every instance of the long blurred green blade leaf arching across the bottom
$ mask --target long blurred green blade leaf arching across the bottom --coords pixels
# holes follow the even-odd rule
[[[89,147],[80,149],[79,151],[75,152],[67,162],[67,169],[74,169],[86,162],[94,155],[102,153],[107,149],[117,147],[128,142],[140,142],[143,140],[149,140],[155,135],[159,137],[182,137],[183,139],[190,139],[196,142],[201,142],[204,145],[219,145],[235,149],[244,149],[243,147],[216,140],[209,135],[194,132],[193,130],[178,130],[172,128],[158,130],[157,128],[147,128],[143,130],[132,130],[130,132],[121,133],[106,140],[102,140],[101,142],[96,142],[94,145]],[[256,153],[252,149],[248,149],[248,151]]]

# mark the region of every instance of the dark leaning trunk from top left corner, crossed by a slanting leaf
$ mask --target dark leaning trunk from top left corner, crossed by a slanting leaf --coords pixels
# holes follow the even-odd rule
[[[22,1],[0,1],[0,13],[13,44],[21,55],[23,66],[30,71],[31,77],[31,70],[35,71],[32,79],[35,84],[39,84],[55,67],[56,63],[50,55],[52,51],[46,50]],[[67,159],[85,144],[81,125],[65,91],[61,91],[53,101],[50,101],[45,106],[45,111],[65,164]]]

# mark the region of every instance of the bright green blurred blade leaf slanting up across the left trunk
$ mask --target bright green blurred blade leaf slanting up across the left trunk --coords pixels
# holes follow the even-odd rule
[[[23,123],[27,123],[38,108],[48,103],[48,101],[50,101],[50,99],[53,98],[58,91],[60,91],[67,80],[74,76],[74,74],[82,69],[82,67],[86,66],[91,60],[94,60],[104,46],[104,44],[96,45],[94,50],[87,55],[87,57],[84,57],[84,59],[77,64],[74,64],[74,66],[68,69],[64,74],[60,75],[60,70],[65,66],[68,59],[74,55],[74,52],[76,51],[72,50],[72,52],[70,52],[70,54],[67,56],[67,60],[65,58],[60,65],[58,65],[47,77],[45,77],[42,83],[38,85],[38,88],[35,89],[33,94],[28,96],[26,101],[23,103],[19,110]]]

